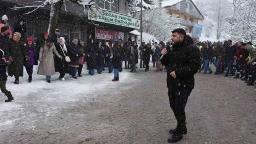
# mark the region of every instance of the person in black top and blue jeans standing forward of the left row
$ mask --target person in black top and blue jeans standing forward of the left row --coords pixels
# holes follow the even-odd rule
[[[122,43],[122,42],[121,42]],[[113,48],[113,58],[112,58],[112,64],[114,68],[114,79],[113,82],[119,81],[119,69],[120,69],[120,59],[121,59],[121,53],[118,46],[118,42],[115,41],[111,47]]]

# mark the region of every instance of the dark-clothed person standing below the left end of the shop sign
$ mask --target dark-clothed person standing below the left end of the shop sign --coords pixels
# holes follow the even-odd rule
[[[85,46],[85,53],[87,54],[87,66],[89,74],[94,75],[94,70],[97,69],[96,48],[94,40],[92,40],[91,38],[87,40],[87,46]]]

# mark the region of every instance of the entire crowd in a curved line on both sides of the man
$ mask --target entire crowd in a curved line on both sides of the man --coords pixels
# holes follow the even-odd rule
[[[38,75],[45,75],[46,82],[51,83],[51,75],[59,72],[59,79],[65,80],[65,75],[77,79],[82,77],[83,66],[87,64],[88,74],[94,75],[108,70],[114,73],[113,82],[119,81],[119,72],[130,69],[136,72],[137,68],[147,72],[149,70],[150,59],[156,72],[163,70],[160,57],[164,48],[171,48],[171,43],[160,43],[150,41],[138,46],[137,41],[130,38],[124,42],[114,40],[93,40],[92,36],[88,40],[72,40],[71,43],[61,35],[57,28],[55,35],[50,36],[44,33],[39,41],[35,36],[27,36],[25,23],[19,19],[14,24],[14,30],[8,23],[7,15],[2,16],[0,23],[0,88],[8,100],[13,100],[11,92],[6,89],[7,74],[15,77],[15,84],[19,84],[19,77],[23,77],[23,67],[28,74],[28,82],[33,80],[33,67],[38,66]],[[192,42],[193,43],[193,42]],[[220,41],[217,43],[203,42],[197,43],[202,54],[202,69],[204,74],[211,74],[209,64],[215,64],[215,74],[223,74],[225,77],[235,76],[245,80],[247,85],[254,85],[256,78],[256,48],[252,43],[237,42],[232,45],[232,41]],[[140,64],[137,67],[137,64]],[[166,67],[165,67],[166,68]],[[207,73],[208,72],[208,73]]]

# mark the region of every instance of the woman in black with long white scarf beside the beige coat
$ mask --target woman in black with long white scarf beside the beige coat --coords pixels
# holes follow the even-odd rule
[[[56,44],[56,50],[62,57],[69,56],[69,53],[67,53],[65,38],[59,38],[59,43]],[[54,66],[55,72],[59,72],[59,79],[65,81],[65,74],[69,74],[69,63],[66,59],[59,59],[59,57],[54,56]]]

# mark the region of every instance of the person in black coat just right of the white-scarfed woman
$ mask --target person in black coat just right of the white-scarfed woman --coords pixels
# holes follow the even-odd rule
[[[79,67],[79,59],[80,56],[83,56],[83,53],[80,51],[78,46],[79,40],[74,39],[72,43],[69,45],[67,49],[70,55],[70,63],[69,63],[69,75],[72,78],[77,79],[77,68]]]

